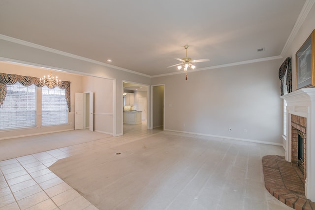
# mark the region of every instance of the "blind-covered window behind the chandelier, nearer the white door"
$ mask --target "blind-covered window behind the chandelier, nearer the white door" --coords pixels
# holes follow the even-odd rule
[[[68,106],[65,90],[58,87],[49,89],[42,87],[42,126],[60,125],[68,123]]]

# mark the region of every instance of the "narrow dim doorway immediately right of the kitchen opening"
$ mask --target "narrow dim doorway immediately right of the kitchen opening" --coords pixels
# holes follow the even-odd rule
[[[164,130],[164,91],[165,85],[151,86],[151,126]]]

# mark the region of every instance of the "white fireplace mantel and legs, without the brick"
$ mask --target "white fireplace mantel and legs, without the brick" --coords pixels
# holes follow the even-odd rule
[[[315,201],[315,88],[296,90],[281,96],[286,103],[285,159],[291,162],[291,115],[305,117],[306,126],[306,180],[305,196]],[[313,132],[312,132],[313,131]]]

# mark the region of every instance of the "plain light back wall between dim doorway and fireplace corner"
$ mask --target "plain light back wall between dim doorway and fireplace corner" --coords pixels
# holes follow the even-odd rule
[[[188,81],[185,74],[153,78],[152,85],[165,84],[165,130],[281,144],[281,63],[190,71]]]

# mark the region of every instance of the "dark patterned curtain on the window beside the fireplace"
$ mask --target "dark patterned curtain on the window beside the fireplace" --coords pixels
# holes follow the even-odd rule
[[[286,73],[286,81],[284,76]],[[287,93],[292,92],[292,67],[291,58],[286,58],[279,68],[279,79],[281,80],[281,95],[284,95],[284,82],[287,85]]]

